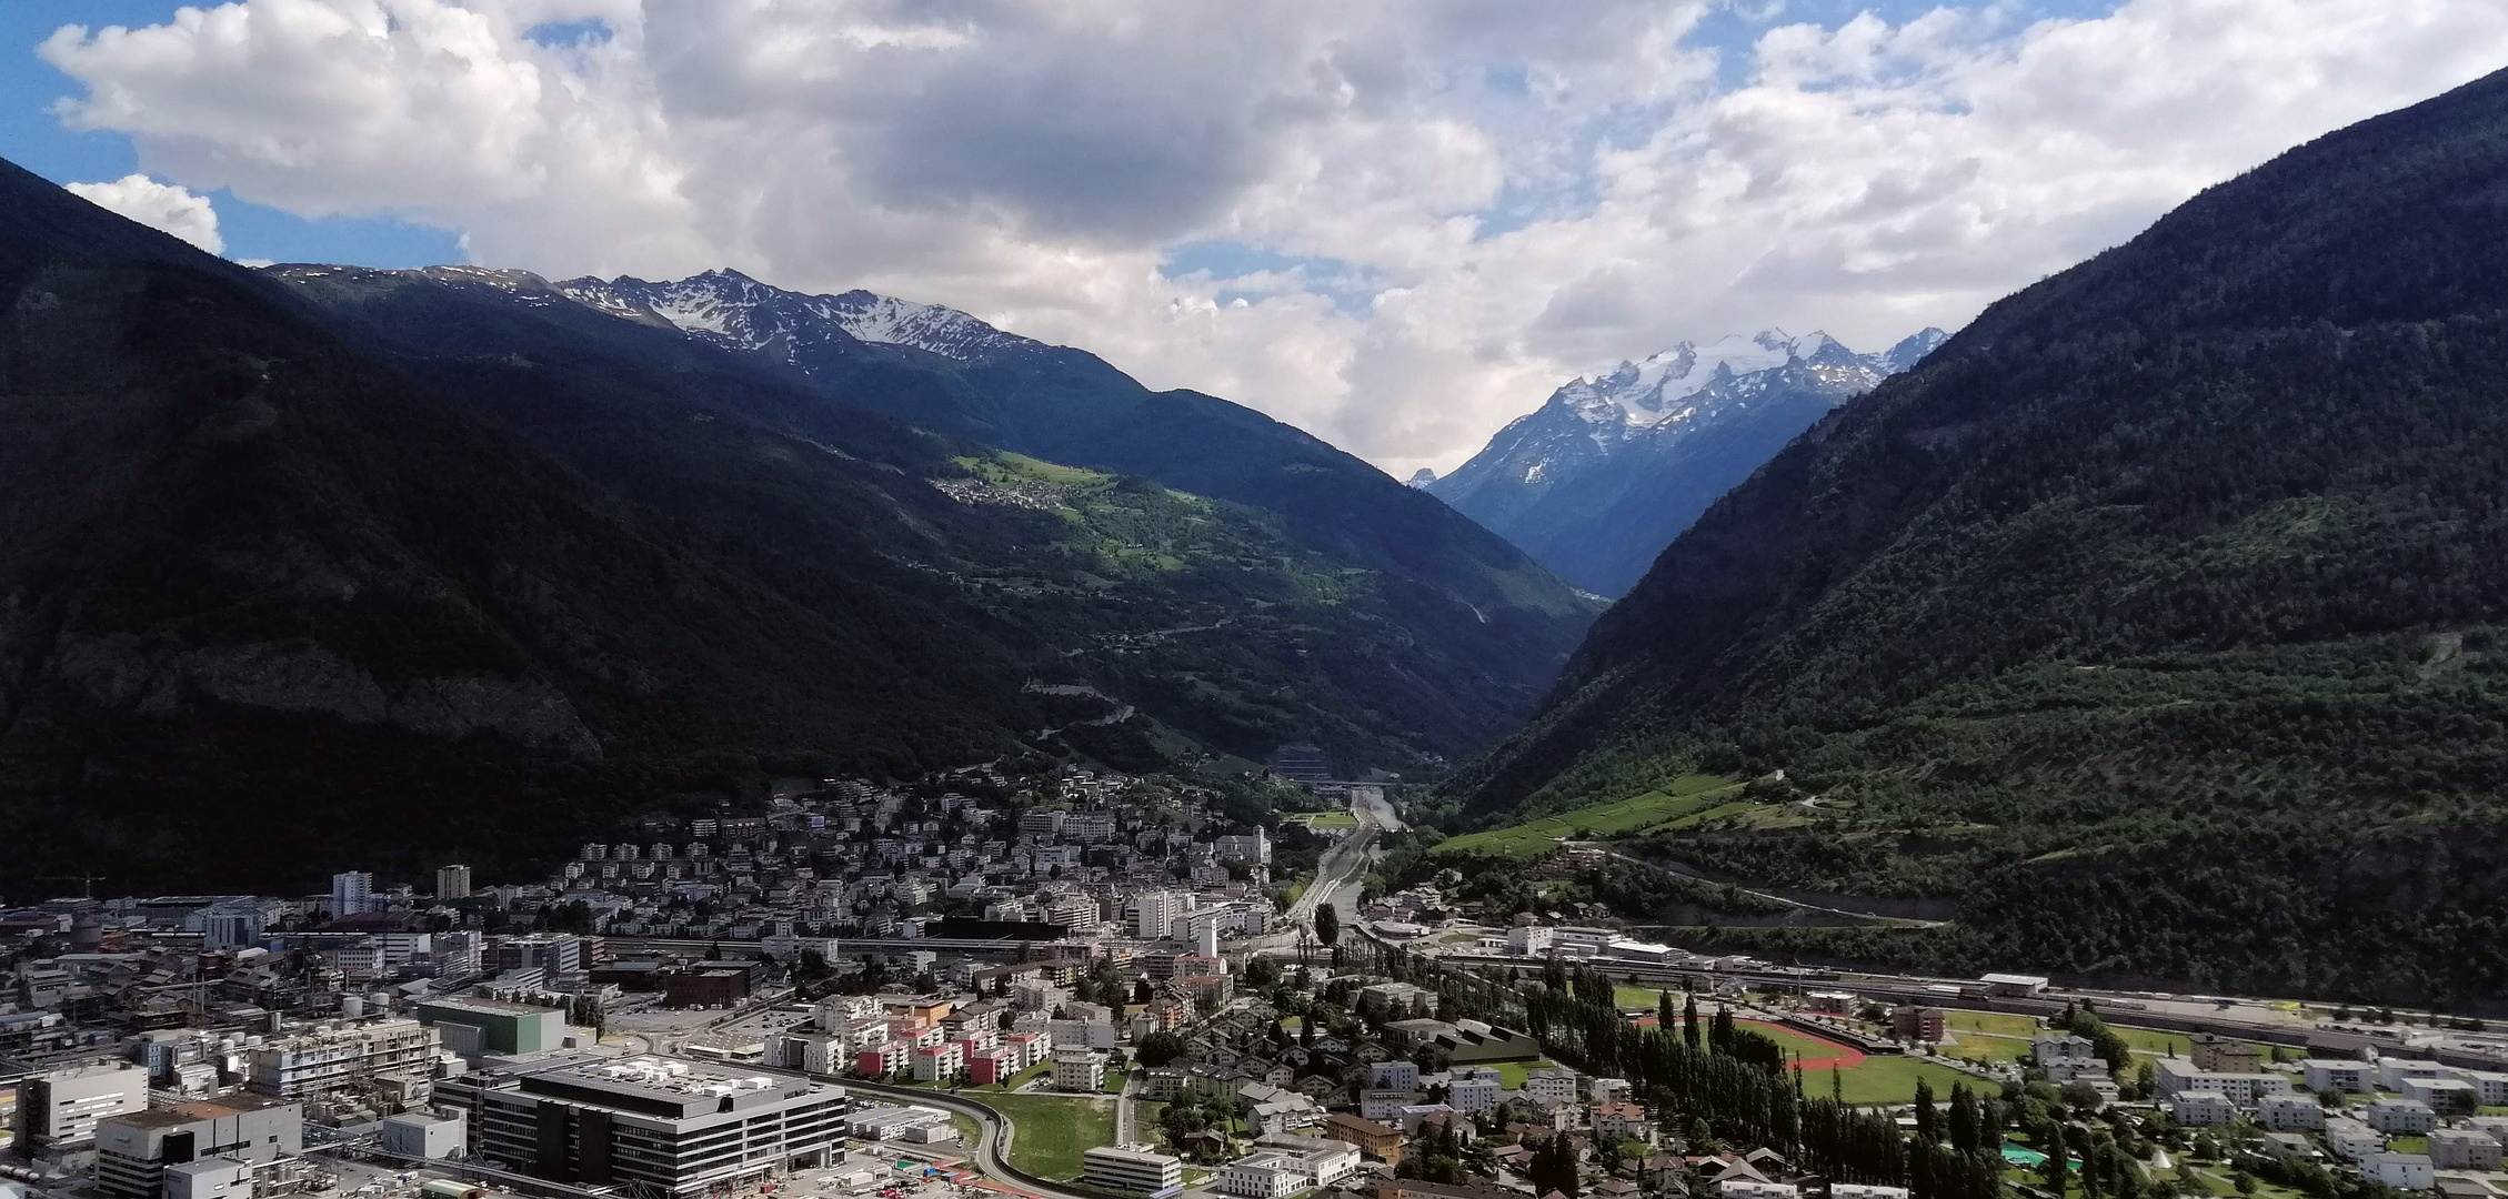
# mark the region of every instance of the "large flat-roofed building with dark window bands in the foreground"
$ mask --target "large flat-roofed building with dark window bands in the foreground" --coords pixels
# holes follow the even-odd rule
[[[507,1074],[466,1094],[482,1156],[549,1181],[672,1196],[825,1164],[850,1106],[840,1086],[657,1056]]]

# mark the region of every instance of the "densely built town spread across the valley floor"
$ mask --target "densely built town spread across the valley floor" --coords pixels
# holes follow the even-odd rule
[[[2480,1021],[1848,976],[1384,890],[1379,785],[988,768],[552,878],[0,913],[43,1199],[2500,1194]],[[1460,883],[1447,880],[1447,883]]]

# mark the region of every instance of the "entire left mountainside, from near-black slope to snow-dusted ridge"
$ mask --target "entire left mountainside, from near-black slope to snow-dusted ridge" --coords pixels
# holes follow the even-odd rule
[[[1435,773],[1598,610],[963,314],[251,271],[5,163],[0,201],[0,873],[507,868],[780,773]]]

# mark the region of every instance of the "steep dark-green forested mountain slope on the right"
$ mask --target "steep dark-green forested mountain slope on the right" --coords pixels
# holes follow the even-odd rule
[[[1866,958],[2495,998],[2503,309],[2508,75],[2217,186],[1718,502],[1460,820],[1783,770],[1643,850],[1961,901]]]

